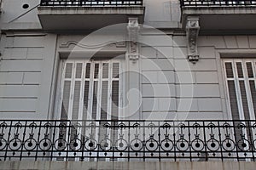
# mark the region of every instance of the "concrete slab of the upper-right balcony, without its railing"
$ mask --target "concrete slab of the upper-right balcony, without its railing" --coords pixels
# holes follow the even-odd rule
[[[183,28],[188,16],[199,16],[201,34],[256,34],[256,7],[183,7]]]

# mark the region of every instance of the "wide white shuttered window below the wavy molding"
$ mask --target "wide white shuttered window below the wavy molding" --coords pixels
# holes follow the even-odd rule
[[[120,60],[64,61],[61,119],[118,120],[121,105]]]

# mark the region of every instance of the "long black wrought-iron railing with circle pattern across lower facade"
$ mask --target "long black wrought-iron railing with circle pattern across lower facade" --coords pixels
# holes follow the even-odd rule
[[[256,121],[1,121],[1,161],[255,161]]]

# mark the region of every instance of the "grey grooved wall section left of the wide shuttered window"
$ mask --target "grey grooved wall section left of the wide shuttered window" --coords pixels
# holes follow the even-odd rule
[[[47,118],[55,59],[55,35],[30,33],[1,39],[0,114]]]

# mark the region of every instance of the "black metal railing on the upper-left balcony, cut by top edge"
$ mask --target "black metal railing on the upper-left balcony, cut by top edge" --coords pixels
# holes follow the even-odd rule
[[[142,6],[143,0],[41,0],[40,5],[49,7]]]

